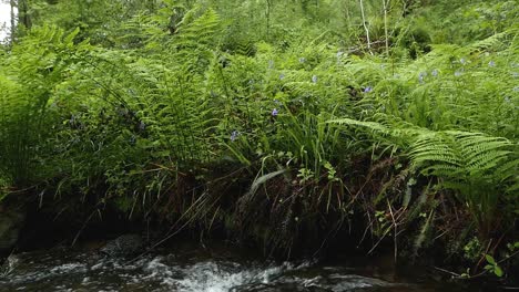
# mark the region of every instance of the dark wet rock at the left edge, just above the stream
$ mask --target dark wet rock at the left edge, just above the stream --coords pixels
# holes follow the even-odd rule
[[[26,215],[0,206],[0,255],[9,253],[18,241]]]

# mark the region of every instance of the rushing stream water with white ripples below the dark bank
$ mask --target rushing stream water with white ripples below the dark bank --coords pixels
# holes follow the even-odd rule
[[[390,261],[335,259],[274,263],[230,247],[183,244],[139,259],[105,258],[95,249],[20,253],[3,291],[363,291],[465,292],[448,283],[395,273]],[[6,272],[6,271],[4,271]],[[492,290],[488,290],[492,291]]]

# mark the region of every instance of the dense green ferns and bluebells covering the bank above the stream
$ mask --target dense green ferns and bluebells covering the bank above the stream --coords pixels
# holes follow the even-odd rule
[[[516,1],[18,6],[0,51],[1,199],[267,252],[350,233],[466,275],[517,264]]]

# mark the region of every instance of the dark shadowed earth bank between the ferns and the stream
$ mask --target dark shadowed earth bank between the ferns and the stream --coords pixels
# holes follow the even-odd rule
[[[360,267],[362,263],[355,263],[355,259],[359,259],[360,262],[372,262],[370,267],[374,269],[372,272],[375,272],[373,275],[376,278],[380,279],[383,277],[384,280],[388,280],[387,277],[393,274],[393,277],[407,275],[408,278],[405,281],[408,282],[415,282],[416,279],[428,283],[454,281],[452,283],[458,283],[458,286],[452,288],[452,291],[474,291],[471,289],[475,286],[482,289],[480,291],[487,291],[487,288],[491,288],[488,291],[495,291],[496,286],[510,288],[517,284],[515,282],[517,279],[512,277],[517,265],[513,265],[512,260],[507,265],[502,264],[507,269],[507,278],[496,281],[495,277],[487,272],[470,279],[468,275],[462,275],[470,262],[452,257],[454,254],[449,254],[445,247],[438,244],[438,241],[436,244],[416,253],[417,251],[413,249],[414,242],[406,242],[406,233],[399,234],[397,246],[395,246],[391,237],[386,240],[373,238],[366,231],[369,228],[369,222],[365,221],[365,218],[358,218],[357,221],[354,221],[353,217],[350,217],[348,223],[333,230],[334,233],[328,233],[327,238],[319,238],[315,233],[306,236],[304,233],[305,229],[296,234],[285,234],[302,240],[301,243],[292,246],[287,252],[283,249],[275,249],[275,246],[268,244],[266,239],[264,241],[258,240],[257,233],[255,233],[257,230],[225,229],[224,222],[214,218],[211,228],[207,228],[207,226],[192,219],[179,217],[173,220],[171,217],[160,217],[157,213],[149,213],[149,220],[140,217],[139,213],[130,219],[128,212],[119,210],[114,206],[95,209],[94,215],[89,208],[83,208],[82,211],[61,209],[58,212],[54,206],[41,208],[35,199],[34,196],[34,201],[23,202],[23,206],[28,208],[24,212],[30,216],[26,218],[24,226],[20,229],[18,243],[11,250],[14,255],[34,251],[44,254],[47,251],[52,253],[53,250],[62,249],[72,252],[89,252],[102,258],[105,257],[105,253],[102,252],[103,248],[110,244],[112,240],[121,234],[136,234],[144,244],[133,249],[132,253],[123,252],[118,257],[133,259],[141,254],[155,254],[156,252],[167,251],[179,254],[179,244],[183,246],[180,249],[199,247],[196,249],[200,250],[216,244],[220,249],[226,246],[225,249],[228,250],[250,250],[250,252],[255,253],[254,258],[257,260],[263,259],[275,262],[308,259],[312,262],[333,262],[333,264],[345,265],[352,263]],[[14,204],[13,201],[7,202]],[[63,206],[69,205],[64,204]],[[11,210],[16,209],[13,205],[9,207]],[[83,207],[88,206],[83,205]],[[325,231],[320,230],[320,232],[324,233]],[[131,246],[131,243],[126,246]],[[131,247],[129,249],[132,250]],[[208,248],[210,250],[211,248]],[[384,261],[384,263],[380,263],[380,261]],[[420,268],[418,269],[418,267]],[[380,275],[378,271],[386,272]],[[390,271],[390,273],[387,274],[387,271]],[[389,282],[400,281],[397,279],[403,280],[401,278],[393,278],[393,280],[389,279]],[[465,284],[469,285],[466,286]]]

